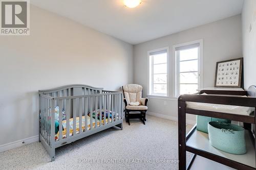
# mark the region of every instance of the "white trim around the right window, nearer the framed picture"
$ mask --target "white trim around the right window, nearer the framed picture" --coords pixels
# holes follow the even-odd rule
[[[172,80],[172,91],[173,91],[173,95],[175,97],[178,97],[178,86],[179,86],[179,82],[177,80],[177,75],[178,75],[178,61],[176,58],[176,48],[180,47],[180,46],[185,46],[185,45],[191,45],[191,44],[195,44],[195,43],[199,43],[199,56],[198,56],[198,65],[199,65],[199,69],[198,69],[198,74],[199,74],[199,82],[198,82],[198,88],[203,88],[203,82],[204,82],[204,75],[203,75],[203,39],[199,39],[199,40],[195,40],[195,41],[190,41],[190,42],[185,42],[185,43],[180,43],[180,44],[176,44],[173,45],[173,80]]]

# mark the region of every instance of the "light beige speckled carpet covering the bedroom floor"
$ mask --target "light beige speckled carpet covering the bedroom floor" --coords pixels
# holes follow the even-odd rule
[[[147,116],[58,148],[54,162],[39,142],[2,152],[0,169],[178,169],[177,160],[178,124]]]

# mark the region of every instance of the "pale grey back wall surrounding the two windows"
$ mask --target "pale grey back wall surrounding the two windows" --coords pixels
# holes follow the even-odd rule
[[[147,93],[147,51],[169,46],[172,61],[172,46],[179,43],[203,39],[204,87],[213,87],[216,62],[242,57],[241,15],[236,15],[206,25],[147,41],[134,46],[134,82],[143,86]],[[172,63],[170,63],[172,65]],[[172,89],[172,87],[170,87]],[[167,102],[167,106],[163,102]],[[148,112],[177,118],[177,99],[150,99]],[[195,120],[194,116],[188,117]]]

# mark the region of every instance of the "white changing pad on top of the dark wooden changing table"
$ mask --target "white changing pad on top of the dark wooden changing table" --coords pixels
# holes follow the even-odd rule
[[[208,95],[208,94],[203,93],[200,95]],[[247,96],[245,95],[241,97],[247,97]],[[252,107],[219,105],[219,104],[197,103],[197,102],[186,102],[186,107],[190,109],[223,112],[223,113],[230,113],[230,114],[242,114],[242,115],[250,115],[250,113],[254,111],[254,108]]]

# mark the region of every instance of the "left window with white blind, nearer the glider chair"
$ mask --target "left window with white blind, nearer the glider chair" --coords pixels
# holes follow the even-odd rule
[[[148,52],[149,57],[149,93],[168,95],[168,48]]]

